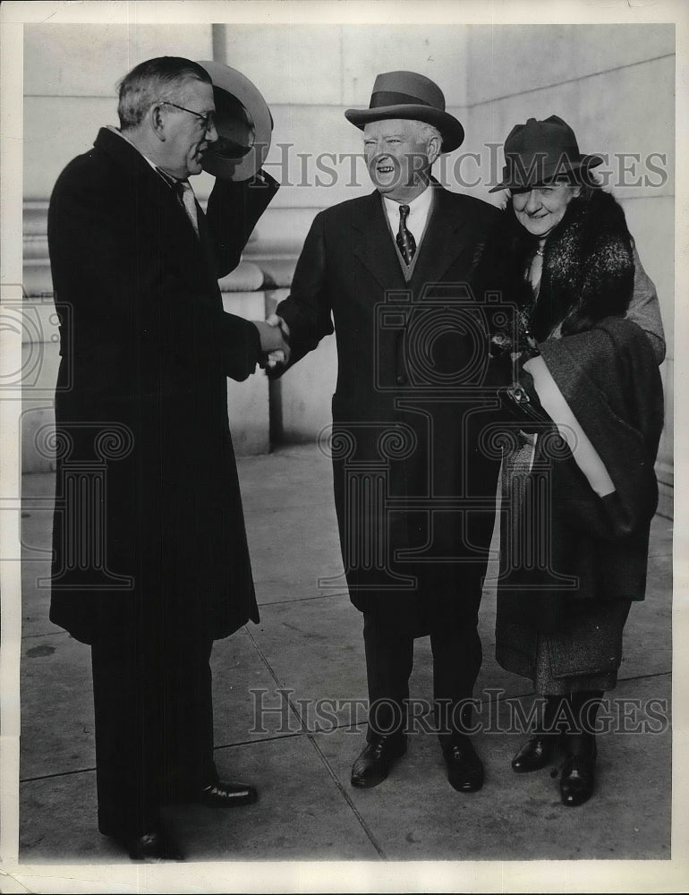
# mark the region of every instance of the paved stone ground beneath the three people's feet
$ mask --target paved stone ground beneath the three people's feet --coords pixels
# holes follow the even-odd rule
[[[480,792],[447,783],[431,734],[411,737],[386,782],[353,789],[363,744],[362,617],[344,586],[329,461],[286,447],[238,462],[261,611],[213,653],[216,762],[250,780],[259,802],[236,811],[166,809],[189,861],[472,861],[670,857],[671,522],[653,521],[647,599],[632,608],[612,708],[627,731],[599,738],[598,786],[586,805],[560,804],[544,770],[516,775],[518,734],[491,732],[527,681],[493,658],[495,598],[481,609],[484,661],[476,695],[486,766]],[[51,474],[24,479],[20,861],[127,862],[96,828],[89,648],[48,621]],[[412,697],[430,699],[428,638],[416,643]],[[316,713],[319,698],[333,704]],[[655,702],[650,703],[653,700]],[[257,718],[257,706],[264,711]],[[323,706],[321,706],[323,708]],[[645,724],[647,732],[639,732]],[[659,732],[653,732],[654,730]],[[214,890],[215,891],[215,890]]]

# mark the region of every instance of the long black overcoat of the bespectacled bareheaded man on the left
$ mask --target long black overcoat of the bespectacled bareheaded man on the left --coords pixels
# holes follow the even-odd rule
[[[275,190],[218,181],[199,239],[167,183],[106,129],[55,184],[50,618],[85,643],[134,622],[217,638],[259,618],[226,399],[226,377],[255,370],[259,336],[223,311],[217,278]]]

